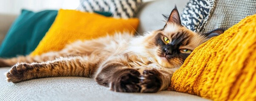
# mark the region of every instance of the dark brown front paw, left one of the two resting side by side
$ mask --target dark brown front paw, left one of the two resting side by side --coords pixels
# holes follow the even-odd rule
[[[140,92],[138,85],[140,73],[135,69],[123,69],[113,74],[110,90],[117,92]]]

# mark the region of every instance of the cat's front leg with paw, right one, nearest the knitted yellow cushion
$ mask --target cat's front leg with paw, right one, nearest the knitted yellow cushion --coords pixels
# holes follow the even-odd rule
[[[170,85],[170,80],[174,71],[172,69],[140,69],[141,72],[141,93],[155,93],[166,90]]]

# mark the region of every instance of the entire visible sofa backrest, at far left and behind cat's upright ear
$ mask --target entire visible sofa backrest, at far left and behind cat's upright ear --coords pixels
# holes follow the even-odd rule
[[[142,34],[143,32],[163,28],[165,19],[162,14],[169,15],[175,4],[181,14],[187,1],[188,0],[155,0],[143,3],[136,16],[140,19],[138,33]],[[0,44],[16,17],[17,15],[0,14]]]

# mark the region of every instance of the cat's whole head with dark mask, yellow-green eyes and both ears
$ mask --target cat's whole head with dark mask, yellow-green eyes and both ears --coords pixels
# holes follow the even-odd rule
[[[165,27],[149,33],[144,47],[161,66],[180,67],[197,46],[223,32],[223,29],[215,29],[205,34],[192,32],[181,25],[179,13],[174,8]]]

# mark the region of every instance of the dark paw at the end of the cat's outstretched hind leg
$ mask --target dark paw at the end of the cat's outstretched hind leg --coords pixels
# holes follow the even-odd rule
[[[11,67],[11,69],[6,73],[7,82],[20,82],[23,81],[24,73],[28,70],[30,64],[22,63],[16,64]]]

